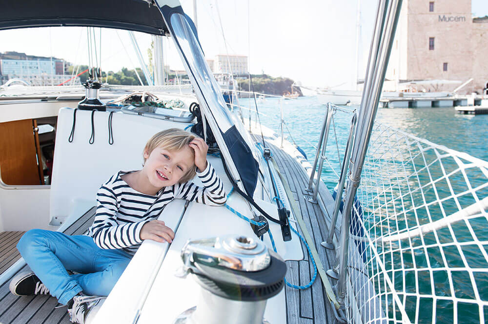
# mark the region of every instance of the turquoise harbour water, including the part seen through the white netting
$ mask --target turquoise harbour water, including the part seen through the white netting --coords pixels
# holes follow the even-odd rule
[[[252,99],[240,99],[240,103],[242,106],[251,110],[255,109],[254,100]],[[262,124],[273,129],[276,133],[279,133],[280,127],[280,104],[283,106],[283,115],[288,127],[288,129],[285,128],[285,135],[288,136],[289,141],[291,141],[292,137],[305,151],[308,160],[313,162],[316,149],[312,145],[317,145],[318,142],[318,136],[325,117],[325,105],[319,103],[315,97],[301,97],[296,100],[266,98],[264,101],[258,101],[257,104],[261,113],[260,118]],[[347,108],[359,109],[357,106]],[[243,114],[246,119],[250,114],[251,119],[253,121],[256,120],[256,114],[254,112],[243,110]],[[331,171],[331,168],[339,173],[339,161],[342,162],[343,159],[350,126],[350,117],[349,114],[337,112],[334,115],[334,124],[329,133],[325,154],[329,164],[324,165],[322,179],[331,191],[337,183],[337,176]],[[466,152],[473,157],[488,161],[488,115],[461,115],[452,107],[414,109],[380,108],[376,120],[384,125],[427,139],[430,142],[444,145],[449,149]],[[381,191],[387,193],[392,198],[384,199],[381,195],[368,195],[364,194],[366,190],[363,191],[363,196],[360,197],[360,200],[363,202],[365,209],[365,226],[369,229],[368,232],[371,236],[374,236],[377,232],[381,234],[391,229],[402,230],[405,227],[422,225],[428,222],[429,217],[432,220],[437,220],[442,218],[443,215],[449,215],[459,210],[459,205],[461,208],[465,208],[474,202],[472,195],[461,194],[467,190],[462,172],[455,172],[450,176],[451,185],[454,188],[453,191],[455,194],[459,194],[459,197],[456,199],[446,198],[442,205],[436,203],[426,206],[423,201],[424,198],[419,194],[419,191],[413,191],[413,194],[407,195],[408,199],[405,199],[405,197],[403,199],[393,199],[393,197],[405,195],[407,189],[412,191],[412,189],[418,188],[419,186],[423,187],[423,194],[427,202],[434,201],[436,198],[442,200],[444,197],[452,196],[452,192],[449,189],[449,185],[445,182],[440,181],[432,184],[431,178],[442,178],[443,175],[442,168],[438,167],[435,163],[437,158],[436,152],[430,150],[422,154],[419,153],[422,151],[422,147],[419,147],[416,143],[408,148],[408,143],[405,144],[402,141],[395,142],[394,138],[385,135],[383,138],[381,137],[381,132],[379,136],[376,137],[377,140],[380,138],[381,141],[389,141],[393,143],[393,146],[389,148],[387,153],[381,152],[380,154],[377,152],[375,157],[365,163],[362,185],[373,193]],[[398,146],[398,148],[395,146]],[[385,148],[386,146],[382,147]],[[396,159],[391,158],[393,155],[390,152],[402,152],[401,154],[407,152],[414,156],[418,154],[418,158],[413,159],[412,163],[405,167],[401,163],[398,163]],[[419,160],[421,158],[423,160]],[[428,172],[425,168],[422,170],[422,167],[425,164],[430,164],[431,161],[433,162],[429,166]],[[458,168],[457,164],[450,158],[443,158],[443,163],[445,172],[447,173],[453,172],[453,170]],[[378,165],[380,164],[387,165],[389,169],[379,168]],[[403,173],[411,174],[415,171],[414,169],[420,170],[418,177],[405,175],[405,178],[401,178]],[[468,169],[467,171],[467,176],[473,187],[486,182],[486,175],[476,172],[477,169]],[[395,177],[398,180],[398,175],[400,175],[401,181],[391,181]],[[378,178],[380,179],[378,180]],[[383,179],[385,178],[389,182],[384,181]],[[477,194],[481,199],[488,195],[488,190],[483,189],[478,191]],[[402,208],[409,209],[409,211],[404,211],[403,213],[395,212],[397,214],[395,222],[378,222],[375,218],[375,214],[381,214],[382,212],[389,214],[391,210],[402,210]],[[393,279],[394,286],[399,291],[414,294],[419,293],[424,296],[451,296],[454,293],[457,298],[473,299],[475,298],[475,293],[472,289],[468,271],[466,271],[467,263],[469,268],[474,269],[473,278],[476,286],[478,286],[477,293],[482,300],[488,301],[488,274],[481,269],[479,272],[476,272],[477,268],[488,268],[488,264],[481,256],[483,253],[487,253],[488,246],[480,247],[476,244],[468,244],[473,241],[488,240],[488,234],[486,234],[488,222],[484,217],[479,217],[471,219],[469,224],[476,233],[475,237],[471,235],[472,233],[464,222],[458,222],[452,226],[452,231],[448,229],[438,230],[438,237],[434,237],[432,233],[426,234],[423,242],[417,238],[413,239],[412,242],[401,241],[400,246],[396,247],[392,244],[388,247],[376,248],[380,254],[384,253],[384,263],[387,269],[400,269],[399,264],[402,264],[402,262],[404,268],[413,269],[412,271],[405,272],[392,271],[390,277]],[[450,245],[453,236],[455,236],[458,242],[464,242],[465,245],[460,249],[454,245]],[[437,247],[436,242],[440,242],[442,247]],[[410,244],[413,248],[411,250],[404,249],[403,254],[394,251],[398,248],[402,249],[404,243]],[[422,248],[423,246],[427,246],[428,248]],[[484,248],[485,251],[480,251],[480,248]],[[466,262],[463,260],[463,256]],[[370,252],[366,252],[366,259],[370,257],[372,257]],[[451,281],[449,281],[449,276],[443,266],[444,257],[447,259],[448,266],[455,270],[450,273]],[[369,265],[369,269],[371,270],[372,268],[374,267]],[[431,268],[433,271],[423,270],[427,268]],[[421,270],[419,271],[418,269]],[[391,311],[391,301],[384,302],[389,304],[385,308]],[[417,302],[420,303],[418,311]],[[412,323],[415,321],[417,323],[453,323],[456,321],[454,316],[457,317],[458,323],[479,323],[480,312],[484,314],[485,322],[488,322],[488,307],[479,309],[473,304],[458,303],[457,315],[455,315],[456,312],[453,311],[455,305],[449,300],[437,300],[433,302],[432,298],[421,298],[420,301],[417,301],[417,298],[414,296],[406,296],[404,303]],[[432,318],[433,307],[436,310],[435,319]],[[416,319],[415,317],[418,318]]]

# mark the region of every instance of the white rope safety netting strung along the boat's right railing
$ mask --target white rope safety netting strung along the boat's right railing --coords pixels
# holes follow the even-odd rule
[[[488,162],[376,123],[357,198],[350,323],[488,323]]]

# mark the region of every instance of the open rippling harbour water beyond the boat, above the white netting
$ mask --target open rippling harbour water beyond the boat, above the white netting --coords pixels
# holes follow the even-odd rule
[[[257,101],[261,114],[261,122],[276,133],[280,127],[280,100],[266,98]],[[241,98],[241,106],[254,110],[254,100]],[[295,100],[283,100],[283,116],[289,128],[289,133],[295,142],[304,149],[309,160],[315,156],[315,148],[309,143],[317,145],[320,130],[325,117],[325,105],[319,103],[315,96],[299,97]],[[358,106],[347,107],[356,109]],[[244,117],[256,114],[243,110]],[[339,142],[339,151],[344,152],[345,141],[349,131],[347,114],[337,113],[334,116],[335,135]],[[415,136],[427,139],[433,143],[444,145],[449,149],[466,152],[471,156],[488,161],[488,114],[462,115],[454,108],[379,108],[376,120],[388,126],[400,129]],[[285,135],[289,136],[285,129]],[[327,153],[331,163],[337,166],[337,148],[335,145],[333,128],[329,134]],[[343,146],[341,146],[343,144]],[[333,153],[335,153],[335,158]],[[342,157],[341,157],[342,158]],[[328,181],[328,174],[325,181]]]

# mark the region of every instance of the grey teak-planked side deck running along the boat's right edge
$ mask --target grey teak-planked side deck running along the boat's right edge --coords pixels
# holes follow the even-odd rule
[[[325,224],[325,218],[320,207],[308,201],[310,194],[305,191],[308,185],[308,178],[302,166],[293,157],[278,147],[270,143],[266,143],[266,147],[271,149],[280,173],[288,182],[297,206],[302,211],[306,228],[314,240],[324,269],[331,268],[335,258],[335,251],[325,249],[320,245],[321,242],[325,241],[327,225]],[[288,198],[291,199],[291,197]],[[292,226],[297,227],[295,224],[292,224]],[[302,234],[299,228],[298,230]],[[309,283],[311,275],[313,275],[313,266],[309,261],[307,250],[303,244],[302,249],[304,252],[304,260],[286,261],[288,266],[286,280],[290,284],[306,285]],[[298,290],[285,286],[285,296],[287,324],[323,324],[335,322],[331,305],[327,299],[319,275],[317,275],[315,282],[309,289]]]

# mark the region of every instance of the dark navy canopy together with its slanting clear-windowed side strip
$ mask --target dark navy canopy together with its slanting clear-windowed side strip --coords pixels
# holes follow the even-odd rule
[[[230,176],[238,189],[252,197],[259,169],[250,149],[252,141],[241,121],[229,113],[205,61],[195,24],[179,0],[0,0],[0,8],[0,30],[84,26],[171,36]]]

